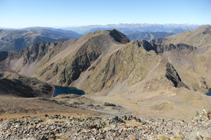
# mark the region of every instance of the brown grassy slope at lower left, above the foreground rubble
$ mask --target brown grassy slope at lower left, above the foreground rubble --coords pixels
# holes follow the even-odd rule
[[[64,115],[74,117],[100,116],[101,114],[58,105],[53,102],[39,100],[38,98],[16,98],[0,96],[0,121],[23,116]]]

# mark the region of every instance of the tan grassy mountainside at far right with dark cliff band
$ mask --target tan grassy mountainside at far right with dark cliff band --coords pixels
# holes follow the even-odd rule
[[[211,27],[201,26],[172,37],[151,41],[157,53],[168,60],[193,90],[208,91],[211,86]],[[174,44],[169,44],[170,42]],[[183,42],[187,44],[175,44]],[[193,46],[194,44],[194,46]]]

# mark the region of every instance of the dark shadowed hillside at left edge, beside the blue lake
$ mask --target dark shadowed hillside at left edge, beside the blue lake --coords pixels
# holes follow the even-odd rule
[[[36,78],[1,73],[0,95],[16,97],[52,97],[53,87]]]

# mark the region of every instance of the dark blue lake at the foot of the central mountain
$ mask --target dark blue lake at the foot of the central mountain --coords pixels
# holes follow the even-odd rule
[[[54,86],[55,91],[53,97],[56,97],[60,94],[77,94],[84,95],[85,92],[83,90],[79,90],[76,87],[62,87],[62,86]]]

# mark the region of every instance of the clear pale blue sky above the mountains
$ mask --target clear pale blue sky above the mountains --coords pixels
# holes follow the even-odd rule
[[[211,24],[211,0],[0,0],[0,27]]]

